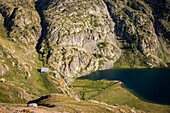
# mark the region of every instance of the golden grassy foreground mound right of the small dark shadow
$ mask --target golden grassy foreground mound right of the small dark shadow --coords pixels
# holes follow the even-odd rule
[[[40,106],[50,107],[57,112],[69,113],[117,113],[121,110],[131,113],[131,108],[119,106],[117,108],[92,101],[76,101],[72,97],[61,94],[51,94],[45,96],[45,99],[39,100],[37,103]]]

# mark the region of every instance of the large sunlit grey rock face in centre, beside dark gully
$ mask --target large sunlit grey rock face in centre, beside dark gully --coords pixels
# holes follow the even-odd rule
[[[114,23],[102,0],[53,1],[45,11],[49,64],[64,75],[75,76],[110,69],[120,57]]]

